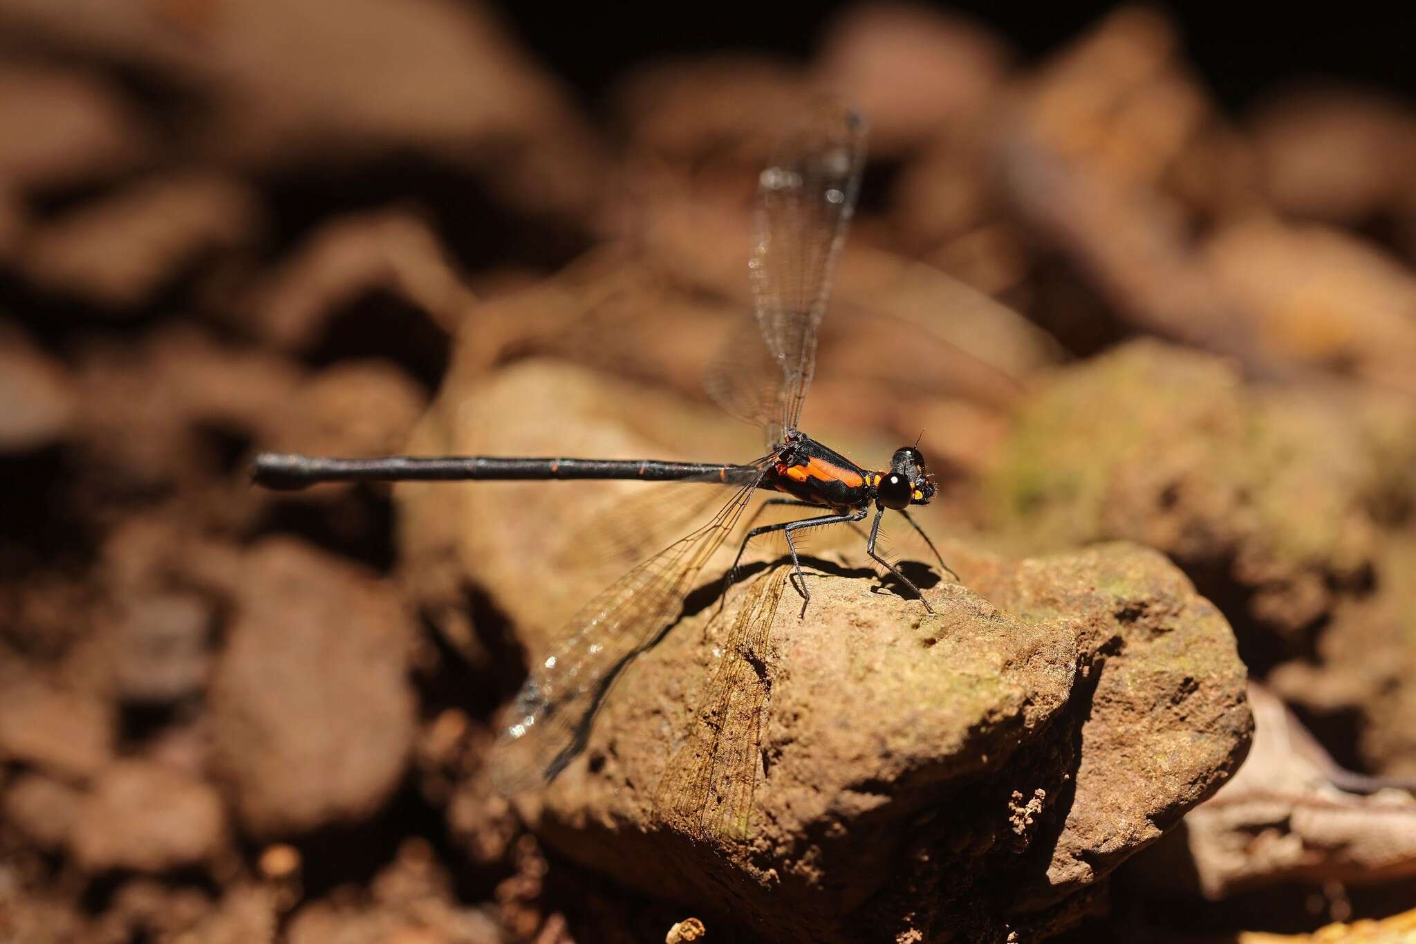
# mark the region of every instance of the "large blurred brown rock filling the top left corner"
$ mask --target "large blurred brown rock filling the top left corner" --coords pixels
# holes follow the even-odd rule
[[[218,161],[413,151],[473,163],[523,205],[561,211],[593,202],[603,180],[564,91],[481,4],[249,0],[75,18],[17,0],[0,24],[195,89],[184,143]]]

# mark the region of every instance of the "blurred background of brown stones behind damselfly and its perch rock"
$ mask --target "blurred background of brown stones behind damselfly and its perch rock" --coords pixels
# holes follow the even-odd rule
[[[481,771],[508,624],[585,586],[245,463],[613,450],[556,426],[578,388],[477,413],[538,358],[634,385],[664,459],[756,456],[701,378],[821,92],[871,150],[803,426],[865,464],[923,429],[935,534],[1163,551],[1284,732],[1257,805],[1126,863],[1075,940],[1416,907],[1409,28],[803,6],[0,0],[0,937],[683,917],[548,858]]]

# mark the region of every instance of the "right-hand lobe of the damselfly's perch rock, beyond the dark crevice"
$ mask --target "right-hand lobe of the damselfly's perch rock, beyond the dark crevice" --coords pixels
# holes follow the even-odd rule
[[[1099,655],[1049,899],[1104,876],[1229,778],[1253,727],[1247,672],[1219,610],[1154,551],[1027,559],[973,586],[1029,620],[1085,620]]]

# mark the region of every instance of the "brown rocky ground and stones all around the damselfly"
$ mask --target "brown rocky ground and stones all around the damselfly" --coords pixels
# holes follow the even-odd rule
[[[1222,852],[1294,855],[1225,852],[1219,900],[1127,858],[1198,835],[1240,750],[1202,597],[1349,783],[1413,770],[1408,102],[1199,75],[1185,42],[1235,35],[1199,7],[1041,59],[874,4],[793,21],[789,58],[633,64],[590,30],[538,62],[603,27],[569,7],[84,11],[0,0],[0,938],[1238,940],[1410,907],[1381,791],[1235,804]],[[1381,65],[1359,27],[1315,28]],[[780,543],[712,618],[715,558],[585,793],[513,804],[487,757],[527,654],[721,494],[245,466],[760,454],[702,378],[758,344],[750,194],[823,82],[872,134],[803,423],[872,466],[918,439],[966,585],[888,528],[926,620],[841,529],[806,621]]]

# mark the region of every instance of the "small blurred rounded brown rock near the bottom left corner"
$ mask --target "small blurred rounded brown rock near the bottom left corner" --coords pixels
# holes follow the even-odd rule
[[[225,842],[215,788],[142,760],[108,767],[79,805],[69,849],[85,869],[164,872],[211,860]]]

